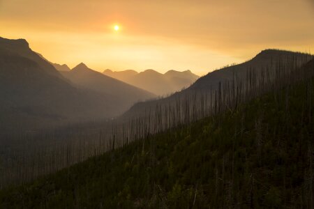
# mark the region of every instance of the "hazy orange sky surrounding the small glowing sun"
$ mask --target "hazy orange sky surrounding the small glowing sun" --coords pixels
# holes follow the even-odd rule
[[[204,75],[262,49],[314,51],[314,0],[0,0],[0,31],[71,68]]]

